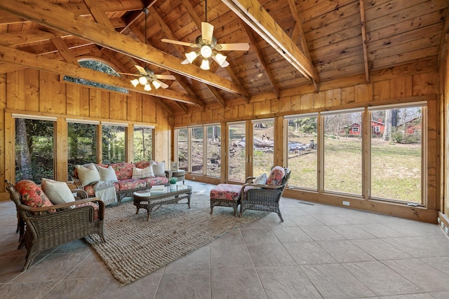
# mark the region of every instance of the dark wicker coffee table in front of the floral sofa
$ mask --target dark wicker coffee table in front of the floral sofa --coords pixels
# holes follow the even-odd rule
[[[152,193],[151,189],[136,191],[133,193],[134,205],[137,208],[135,214],[139,213],[140,209],[146,209],[148,218],[151,217],[152,211],[156,211],[163,204],[178,204],[180,200],[187,199],[187,202],[180,204],[187,204],[190,209],[190,196],[192,195],[192,186],[176,185],[175,189],[170,189],[166,186],[163,193]]]

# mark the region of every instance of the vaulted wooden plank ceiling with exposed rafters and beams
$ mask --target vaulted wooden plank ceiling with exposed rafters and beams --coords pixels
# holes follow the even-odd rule
[[[192,48],[161,39],[193,43],[205,12],[203,0],[2,0],[0,73],[32,67],[86,78],[149,93],[187,113],[190,106],[280,97],[304,85],[318,91],[326,81],[357,75],[368,83],[373,71],[439,62],[449,32],[447,0],[208,0],[218,43],[250,49],[223,51],[229,67],[212,62],[203,71],[181,64]],[[176,80],[145,92],[130,84],[134,77],[79,67],[83,57],[132,74],[135,64],[147,64]]]

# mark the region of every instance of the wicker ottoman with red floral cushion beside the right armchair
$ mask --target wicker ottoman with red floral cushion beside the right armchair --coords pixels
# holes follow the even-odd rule
[[[237,207],[240,204],[240,185],[232,185],[230,183],[220,183],[210,190],[210,214],[213,207],[233,207],[234,215],[237,216]]]

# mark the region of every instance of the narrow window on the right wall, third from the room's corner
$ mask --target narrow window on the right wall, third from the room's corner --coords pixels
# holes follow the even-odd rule
[[[206,142],[206,156],[207,156],[207,176],[220,177],[221,169],[221,127],[220,125],[206,126],[207,142]]]

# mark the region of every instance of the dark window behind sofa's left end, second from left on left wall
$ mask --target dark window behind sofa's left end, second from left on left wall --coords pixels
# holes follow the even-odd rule
[[[71,120],[67,122],[67,177],[71,178],[75,165],[97,162],[98,123],[74,123]]]

